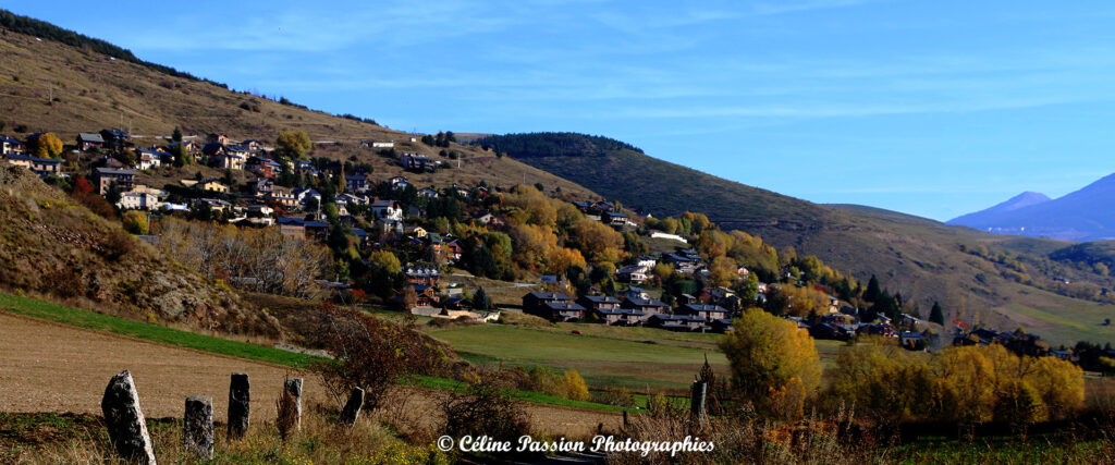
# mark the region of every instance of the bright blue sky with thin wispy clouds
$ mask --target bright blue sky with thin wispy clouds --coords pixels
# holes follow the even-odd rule
[[[3,8],[396,129],[605,135],[818,203],[948,220],[1115,172],[1111,2]]]

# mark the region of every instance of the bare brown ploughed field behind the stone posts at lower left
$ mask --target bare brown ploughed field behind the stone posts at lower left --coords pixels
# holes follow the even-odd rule
[[[289,368],[165,346],[0,312],[0,411],[100,414],[108,379],[128,369],[148,417],[180,417],[185,398],[213,397],[213,417],[223,422],[229,375],[246,372],[252,382],[252,418],[274,418],[283,377],[306,378],[306,401],[326,401],[312,376]],[[437,393],[414,396],[415,419],[432,422]],[[599,424],[617,429],[615,414],[531,405],[534,424],[566,436],[592,434]]]

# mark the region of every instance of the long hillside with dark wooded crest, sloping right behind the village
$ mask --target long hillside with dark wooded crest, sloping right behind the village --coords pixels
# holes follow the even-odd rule
[[[705,213],[721,227],[816,254],[863,282],[876,274],[891,292],[920,307],[923,316],[938,300],[949,319],[1022,326],[1059,341],[1115,340],[1109,328],[1069,329],[1078,320],[1094,321],[1101,313],[1113,312],[1113,307],[1058,294],[1069,294],[1056,285],[1056,278],[1061,277],[1093,283],[1095,296],[1098,285],[1109,285],[1106,277],[1063,267],[1047,256],[1067,243],[1018,242],[879,209],[818,205],[663,162],[626,144],[600,146],[592,141],[550,133],[489,136],[475,143],[655,216]],[[574,152],[570,147],[586,148]],[[1028,274],[1019,278],[1005,263],[1021,267]]]

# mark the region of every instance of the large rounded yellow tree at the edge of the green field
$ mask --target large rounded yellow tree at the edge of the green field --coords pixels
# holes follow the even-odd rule
[[[760,411],[801,415],[806,397],[821,385],[821,359],[813,338],[797,324],[748,309],[720,342],[740,396]]]

